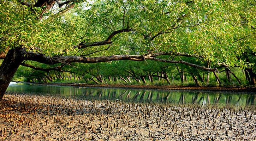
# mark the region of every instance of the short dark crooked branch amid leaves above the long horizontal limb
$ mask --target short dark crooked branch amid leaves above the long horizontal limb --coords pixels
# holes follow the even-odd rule
[[[122,33],[122,32],[130,32],[132,29],[129,29],[129,28],[126,28],[126,29],[121,29],[121,30],[117,30],[117,31],[114,31],[112,32],[108,38],[105,40],[105,41],[100,41],[100,42],[91,42],[91,43],[84,43],[84,42],[81,42],[79,43],[78,45],[76,45],[75,47],[73,48],[87,48],[87,47],[93,47],[93,46],[99,46],[99,45],[106,45],[106,44],[112,44],[112,41],[111,39],[117,35],[118,33]]]

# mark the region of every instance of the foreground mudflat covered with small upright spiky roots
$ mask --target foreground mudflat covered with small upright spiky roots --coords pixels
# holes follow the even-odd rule
[[[252,141],[255,106],[172,105],[6,94],[0,141]]]

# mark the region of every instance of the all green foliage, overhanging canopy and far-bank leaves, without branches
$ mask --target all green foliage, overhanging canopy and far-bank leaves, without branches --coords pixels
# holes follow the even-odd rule
[[[27,2],[34,4],[34,1]],[[241,68],[252,68],[255,71],[255,5],[255,0],[97,0],[77,4],[58,16],[58,12],[64,8],[53,7],[42,13],[44,7],[20,5],[17,0],[1,1],[0,53],[16,47],[24,47],[49,56],[87,57],[176,51],[199,57],[181,57],[174,54],[160,58],[184,60],[210,68],[221,65],[230,69],[240,67],[235,72],[242,80],[242,85],[246,85]],[[42,15],[43,18],[40,19]],[[115,35],[111,38],[111,46],[73,48],[81,42],[90,44],[105,41],[114,31],[126,28],[132,31]],[[54,67],[30,61],[26,63],[42,68]],[[139,77],[157,73],[166,73],[169,78],[176,76],[173,81],[180,81],[176,65],[150,60],[65,65],[62,70],[66,72],[62,74],[76,73],[83,76],[83,79],[90,79],[88,82],[101,76]],[[178,67],[188,76],[190,82],[186,85],[193,82],[190,75],[202,76],[208,73],[186,65]],[[220,79],[226,84],[237,85],[236,82],[233,84],[226,81],[225,74],[222,74]],[[46,75],[56,74],[54,71],[47,74],[20,67],[15,79],[20,76],[38,79],[38,76]],[[235,80],[234,77],[232,79]],[[149,83],[148,78],[146,81]],[[201,83],[216,85],[215,82],[215,77],[211,74],[210,84]],[[167,85],[166,80],[155,81],[153,84]]]

